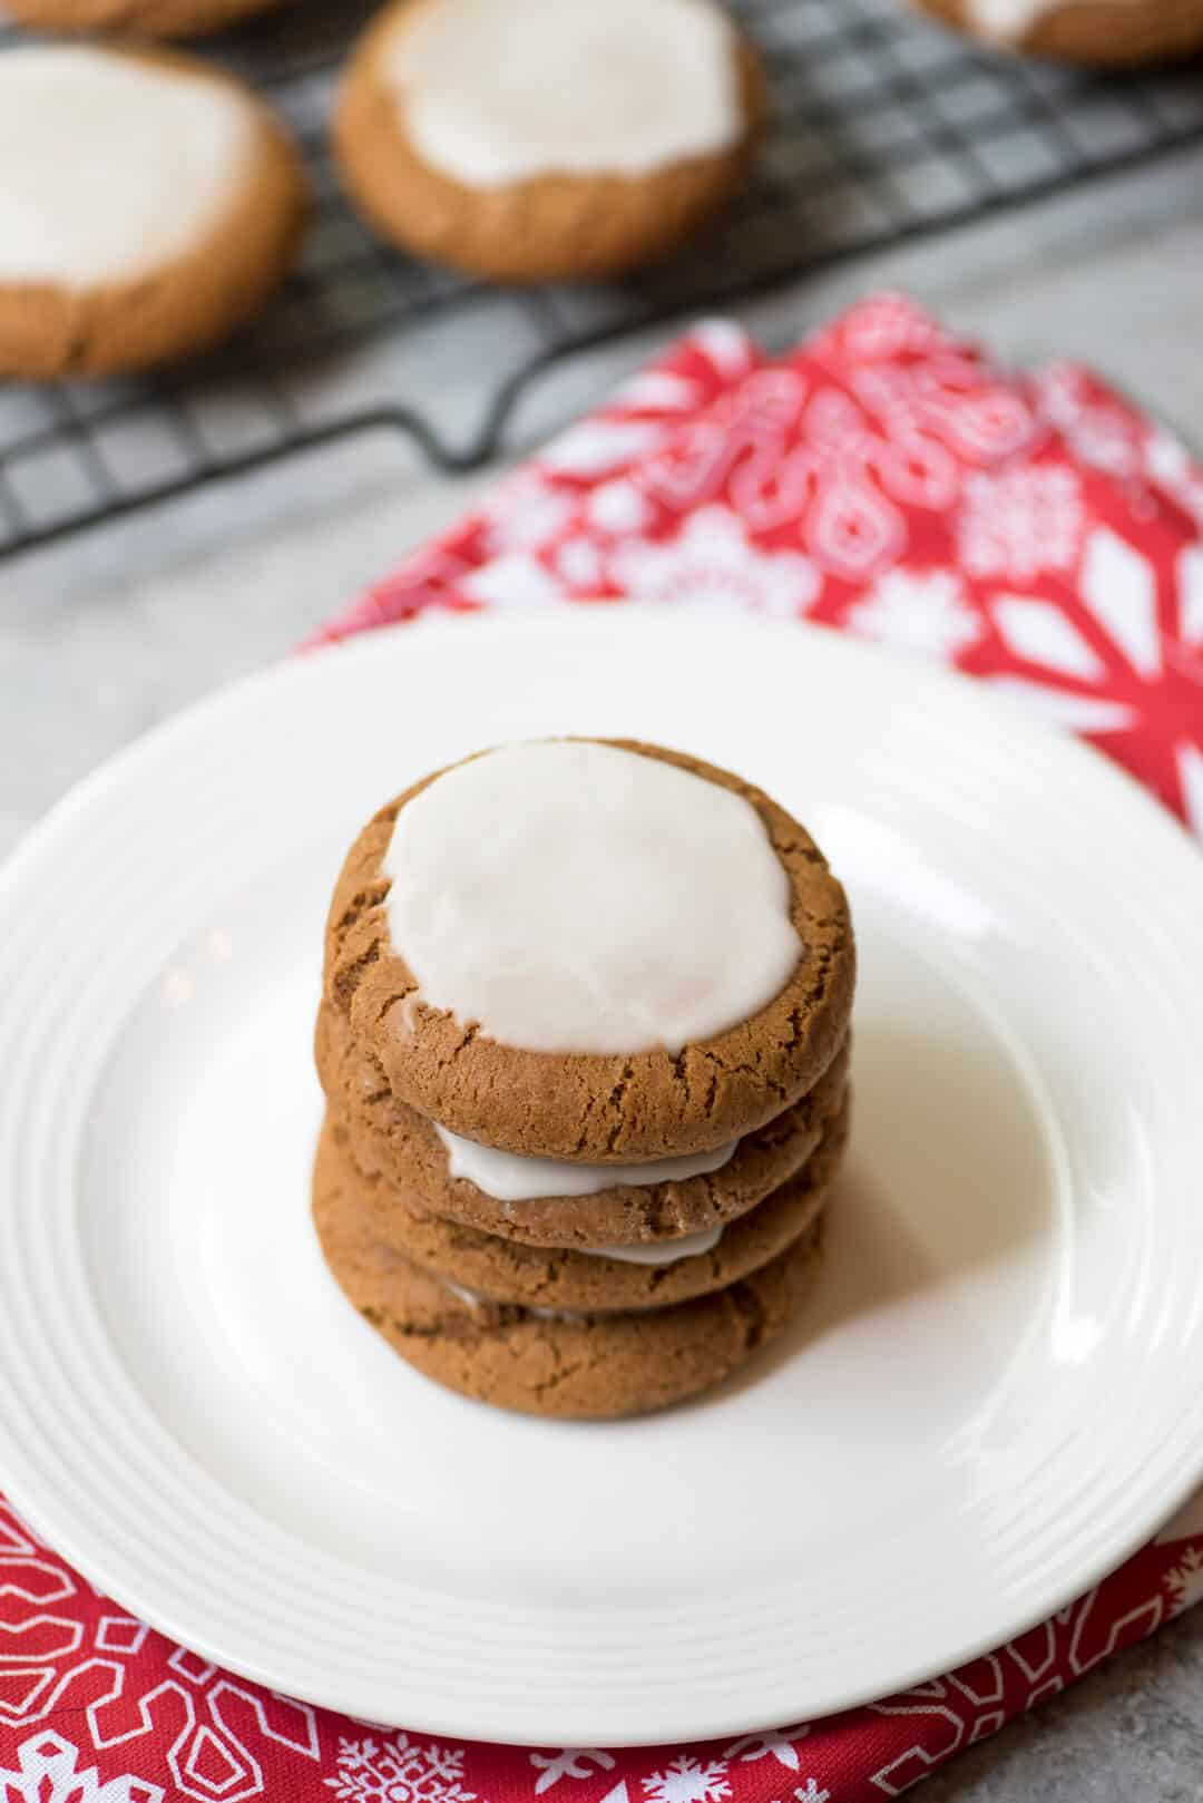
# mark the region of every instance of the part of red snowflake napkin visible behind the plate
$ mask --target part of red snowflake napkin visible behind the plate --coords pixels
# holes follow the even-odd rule
[[[1005,377],[891,294],[781,361],[702,325],[317,640],[628,595],[952,664],[1203,833],[1203,471],[1073,364]]]

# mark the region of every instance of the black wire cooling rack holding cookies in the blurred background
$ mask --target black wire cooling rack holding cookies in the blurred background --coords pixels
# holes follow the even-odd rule
[[[774,90],[741,200],[620,283],[498,290],[381,245],[339,193],[325,123],[370,13],[303,0],[213,41],[305,151],[296,272],[224,352],[123,382],[0,388],[0,557],[350,433],[409,435],[442,469],[501,445],[550,364],[676,316],[1203,141],[1199,69],[1091,76],[976,50],[905,0],[734,0]],[[0,50],[20,41],[0,25]],[[451,418],[467,388],[474,413]]]

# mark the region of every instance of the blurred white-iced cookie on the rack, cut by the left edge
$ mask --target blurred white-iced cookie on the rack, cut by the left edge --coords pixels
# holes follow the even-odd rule
[[[292,144],[207,63],[7,50],[0,375],[103,375],[209,344],[285,272],[303,211]]]

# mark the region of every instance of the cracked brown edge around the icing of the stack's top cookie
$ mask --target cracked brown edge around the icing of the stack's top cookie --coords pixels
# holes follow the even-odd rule
[[[381,1084],[418,1114],[509,1152],[620,1165],[723,1145],[806,1094],[848,1030],[855,947],[844,891],[822,853],[763,790],[682,752],[601,743],[676,764],[759,815],[803,947],[765,1008],[676,1057],[528,1051],[431,1008],[390,938],[382,860],[400,810],[442,772],[382,808],[352,846],[330,907],[323,988]]]

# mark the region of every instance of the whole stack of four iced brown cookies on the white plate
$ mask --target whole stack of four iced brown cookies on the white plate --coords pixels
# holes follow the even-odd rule
[[[427,1377],[608,1417],[792,1318],[848,1134],[848,903],[748,783],[483,752],[364,828],[326,930],[314,1221]]]

